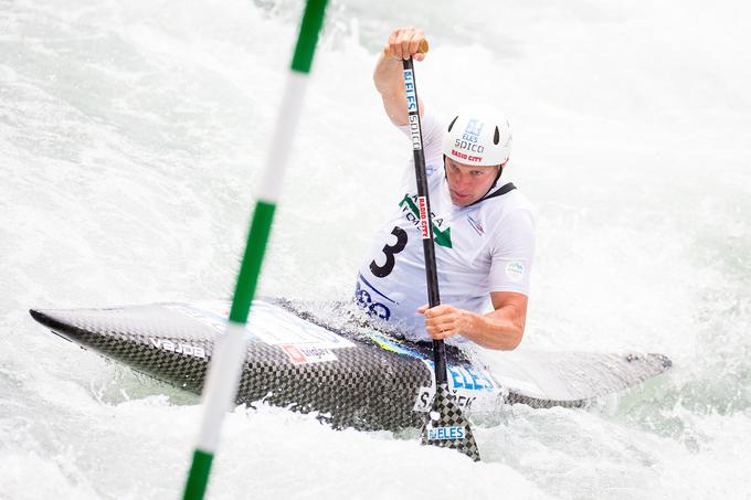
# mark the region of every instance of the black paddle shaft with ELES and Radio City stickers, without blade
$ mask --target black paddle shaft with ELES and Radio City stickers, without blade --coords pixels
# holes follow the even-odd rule
[[[425,172],[425,152],[422,146],[422,125],[420,123],[420,105],[417,104],[417,86],[414,79],[412,57],[404,60],[404,89],[406,91],[406,110],[409,113],[410,136],[414,153],[414,173],[417,179],[417,210],[420,213],[420,231],[423,237],[425,254],[425,277],[427,280],[427,300],[431,307],[441,304],[438,294],[438,273],[435,265],[435,245],[433,243],[433,216],[427,193],[427,173]],[[433,340],[433,361],[435,362],[435,382],[444,384],[446,377],[446,347],[443,340]]]

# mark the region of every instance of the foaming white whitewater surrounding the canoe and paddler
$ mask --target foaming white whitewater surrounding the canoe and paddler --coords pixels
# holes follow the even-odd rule
[[[197,397],[27,309],[230,296],[302,4],[0,0],[0,497],[180,494]],[[604,411],[508,408],[482,464],[240,409],[211,498],[751,498],[751,9],[430,6],[330,6],[261,291],[351,292],[410,156],[371,71],[417,24],[426,105],[494,102],[515,128],[540,212],[520,349],[675,369]]]

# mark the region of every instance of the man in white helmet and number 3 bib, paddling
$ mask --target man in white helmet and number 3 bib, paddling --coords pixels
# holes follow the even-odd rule
[[[422,30],[393,31],[373,73],[387,115],[408,137],[401,61],[423,61],[423,44]],[[515,349],[527,317],[536,221],[529,201],[510,182],[500,182],[511,147],[508,120],[486,108],[458,110],[443,123],[422,100],[420,113],[443,304],[425,305],[412,162],[398,206],[360,267],[356,300],[378,326],[412,339]]]

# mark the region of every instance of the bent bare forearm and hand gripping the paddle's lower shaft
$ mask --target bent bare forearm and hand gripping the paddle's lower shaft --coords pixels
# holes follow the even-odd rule
[[[494,310],[487,315],[458,309],[449,304],[421,307],[425,330],[436,340],[459,334],[487,349],[510,351],[521,342],[527,321],[527,296],[515,291],[493,291]]]

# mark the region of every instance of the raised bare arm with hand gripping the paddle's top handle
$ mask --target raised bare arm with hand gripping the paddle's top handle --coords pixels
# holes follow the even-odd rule
[[[378,57],[373,82],[376,89],[383,99],[383,109],[394,125],[406,125],[406,91],[402,76],[402,60],[410,56],[414,61],[422,61],[425,54],[420,52],[420,45],[425,42],[425,34],[415,28],[399,28],[389,35],[383,52]],[[423,115],[423,103],[419,100],[420,116]]]

